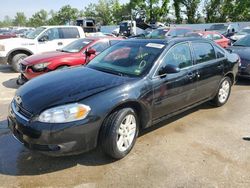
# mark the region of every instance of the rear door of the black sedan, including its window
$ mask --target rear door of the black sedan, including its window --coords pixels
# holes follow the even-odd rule
[[[215,47],[208,42],[192,42],[197,71],[196,101],[210,98],[217,90],[223,77],[225,57],[217,58]]]

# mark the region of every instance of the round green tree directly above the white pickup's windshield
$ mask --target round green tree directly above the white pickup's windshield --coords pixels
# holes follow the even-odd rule
[[[36,12],[30,19],[28,25],[31,27],[38,27],[41,25],[47,25],[48,13],[45,10]]]

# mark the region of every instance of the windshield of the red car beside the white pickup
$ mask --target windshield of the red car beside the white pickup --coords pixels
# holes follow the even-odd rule
[[[70,52],[70,53],[80,52],[84,47],[86,47],[91,42],[93,42],[93,40],[78,39],[78,40],[70,43],[69,45],[65,46],[64,48],[62,48],[61,51]]]

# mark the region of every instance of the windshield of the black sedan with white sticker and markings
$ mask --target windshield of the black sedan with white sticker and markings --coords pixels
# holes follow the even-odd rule
[[[123,41],[102,52],[87,67],[120,76],[140,77],[149,72],[164,48],[163,42]]]

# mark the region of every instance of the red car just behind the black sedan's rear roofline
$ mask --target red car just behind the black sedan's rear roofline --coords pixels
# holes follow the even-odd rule
[[[221,35],[220,33],[216,31],[197,31],[197,32],[191,32],[187,33],[185,35],[186,37],[203,37],[206,39],[213,40],[218,45],[220,45],[222,48],[227,48],[230,45],[230,40]]]

